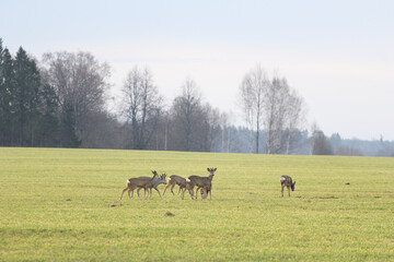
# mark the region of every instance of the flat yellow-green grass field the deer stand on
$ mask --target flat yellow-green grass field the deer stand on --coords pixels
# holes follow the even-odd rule
[[[120,205],[128,178],[207,167],[212,200]],[[394,261],[394,158],[0,148],[0,261]]]

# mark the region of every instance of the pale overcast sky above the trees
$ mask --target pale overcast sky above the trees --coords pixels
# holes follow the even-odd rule
[[[0,0],[0,9],[12,53],[90,51],[112,67],[113,94],[135,64],[148,66],[169,103],[190,76],[241,122],[239,86],[259,63],[304,97],[309,126],[394,140],[394,1]]]

